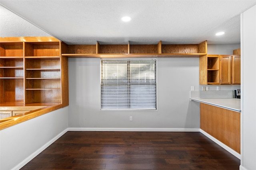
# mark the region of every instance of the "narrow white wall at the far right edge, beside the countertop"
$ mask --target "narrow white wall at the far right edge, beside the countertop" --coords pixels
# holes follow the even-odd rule
[[[242,115],[240,170],[256,170],[256,6],[241,14]]]

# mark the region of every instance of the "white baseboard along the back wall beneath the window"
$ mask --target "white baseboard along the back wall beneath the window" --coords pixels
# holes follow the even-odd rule
[[[69,127],[68,131],[153,131],[153,132],[199,132],[197,128],[90,128]]]

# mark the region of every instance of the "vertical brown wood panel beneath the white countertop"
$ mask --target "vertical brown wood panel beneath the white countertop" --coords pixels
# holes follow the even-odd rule
[[[240,112],[200,103],[200,128],[240,153]]]

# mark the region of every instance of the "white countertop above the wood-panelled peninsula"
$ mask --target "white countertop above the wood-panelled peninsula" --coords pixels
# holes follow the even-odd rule
[[[241,100],[236,98],[190,98],[190,100],[241,112]]]

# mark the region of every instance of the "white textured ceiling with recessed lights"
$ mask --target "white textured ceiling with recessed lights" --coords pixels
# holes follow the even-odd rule
[[[0,0],[0,36],[67,44],[239,44],[256,0]],[[8,10],[7,10],[8,9]],[[130,16],[130,22],[121,21]],[[218,31],[225,34],[216,36]]]

